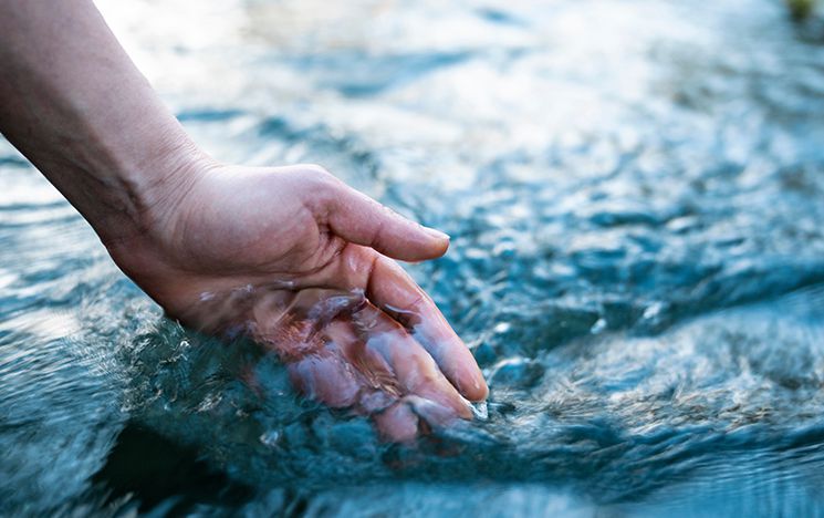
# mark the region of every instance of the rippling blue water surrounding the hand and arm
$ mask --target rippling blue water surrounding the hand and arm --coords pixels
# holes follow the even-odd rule
[[[490,380],[409,447],[164,320],[0,147],[0,514],[824,514],[824,31],[732,0],[101,2],[225,162],[452,236]]]

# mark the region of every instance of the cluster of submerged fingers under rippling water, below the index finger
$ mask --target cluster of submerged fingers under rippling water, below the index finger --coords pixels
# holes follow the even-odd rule
[[[310,340],[319,343],[304,344],[300,349],[310,352],[288,363],[295,387],[328,406],[372,416],[387,441],[410,442],[431,427],[471,417],[429,354],[372,304]]]

